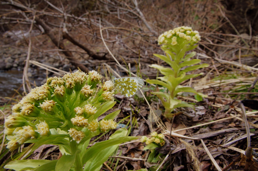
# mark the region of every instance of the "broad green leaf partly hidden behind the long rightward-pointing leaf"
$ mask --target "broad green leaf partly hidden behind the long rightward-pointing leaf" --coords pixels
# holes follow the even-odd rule
[[[125,128],[121,128],[117,130],[114,134],[110,136],[110,139],[124,137],[127,134],[127,130]],[[85,171],[94,171],[98,169],[102,164],[115,152],[118,148],[119,144],[110,146],[101,151],[95,152],[94,156],[87,161],[84,166]]]

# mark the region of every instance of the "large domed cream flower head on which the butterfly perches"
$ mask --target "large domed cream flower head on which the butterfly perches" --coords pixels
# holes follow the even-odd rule
[[[98,121],[114,103],[112,81],[104,82],[96,92],[100,79],[96,71],[87,74],[76,71],[48,78],[45,84],[32,89],[5,119],[4,134],[9,140],[6,147],[12,151],[28,140],[51,139],[57,130],[65,134],[64,141],[69,138],[69,141],[83,143],[93,135],[116,129],[113,119]]]

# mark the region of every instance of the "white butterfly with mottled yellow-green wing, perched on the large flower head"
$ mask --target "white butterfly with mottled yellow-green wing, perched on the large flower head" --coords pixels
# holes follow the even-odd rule
[[[141,78],[138,78],[138,77],[116,78],[114,73],[111,76],[111,80],[116,90],[119,91],[122,95],[125,95],[125,97],[132,97],[144,85],[144,81]]]

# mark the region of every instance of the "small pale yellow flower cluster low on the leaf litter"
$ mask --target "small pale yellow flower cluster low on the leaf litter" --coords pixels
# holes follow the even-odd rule
[[[152,132],[150,133],[151,138],[148,138],[147,136],[142,136],[141,142],[146,143],[146,145],[150,143],[155,143],[159,145],[160,147],[164,146],[165,140],[164,140],[164,135],[163,134],[157,134],[157,132]]]

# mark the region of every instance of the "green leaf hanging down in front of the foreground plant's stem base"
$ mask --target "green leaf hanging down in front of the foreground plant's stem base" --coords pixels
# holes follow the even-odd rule
[[[71,166],[75,162],[75,156],[77,153],[80,153],[81,150],[77,149],[74,155],[66,155],[64,154],[58,161],[55,166],[55,171],[69,171]]]

